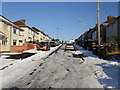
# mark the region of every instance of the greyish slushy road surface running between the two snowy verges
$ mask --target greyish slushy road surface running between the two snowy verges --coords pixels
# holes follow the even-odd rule
[[[91,67],[80,58],[73,57],[74,51],[58,51],[43,59],[42,63],[15,81],[18,88],[102,88]]]

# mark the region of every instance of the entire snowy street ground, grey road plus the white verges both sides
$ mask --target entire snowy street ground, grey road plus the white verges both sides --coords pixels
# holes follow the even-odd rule
[[[90,51],[76,48],[77,51],[65,51],[64,45],[57,46],[52,51],[38,51],[32,57],[14,60],[13,65],[0,70],[2,88],[118,87],[117,62],[99,59]],[[79,50],[85,55],[83,59],[73,56]]]

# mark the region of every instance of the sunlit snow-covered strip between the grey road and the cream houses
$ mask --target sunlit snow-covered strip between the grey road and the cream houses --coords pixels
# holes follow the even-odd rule
[[[13,82],[24,77],[32,71],[37,65],[43,62],[41,59],[47,57],[60,46],[52,47],[50,51],[29,50],[27,52],[36,53],[25,59],[6,59],[6,56],[0,57],[0,89],[9,87]]]

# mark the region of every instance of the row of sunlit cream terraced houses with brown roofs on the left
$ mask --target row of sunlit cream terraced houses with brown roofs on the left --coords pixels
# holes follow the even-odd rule
[[[5,35],[5,38],[0,40],[0,52],[19,51],[17,49],[26,45],[27,42],[51,41],[51,38],[44,31],[30,27],[24,19],[12,22],[4,16],[0,16],[0,33]],[[27,45],[26,50],[35,47],[32,44]]]

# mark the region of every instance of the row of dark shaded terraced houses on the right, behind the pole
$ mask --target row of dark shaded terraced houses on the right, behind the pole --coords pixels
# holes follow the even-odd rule
[[[108,16],[107,20],[100,25],[101,45],[117,45],[120,47],[120,16]],[[87,30],[78,39],[77,43],[85,49],[92,50],[92,45],[98,42],[98,25]]]

